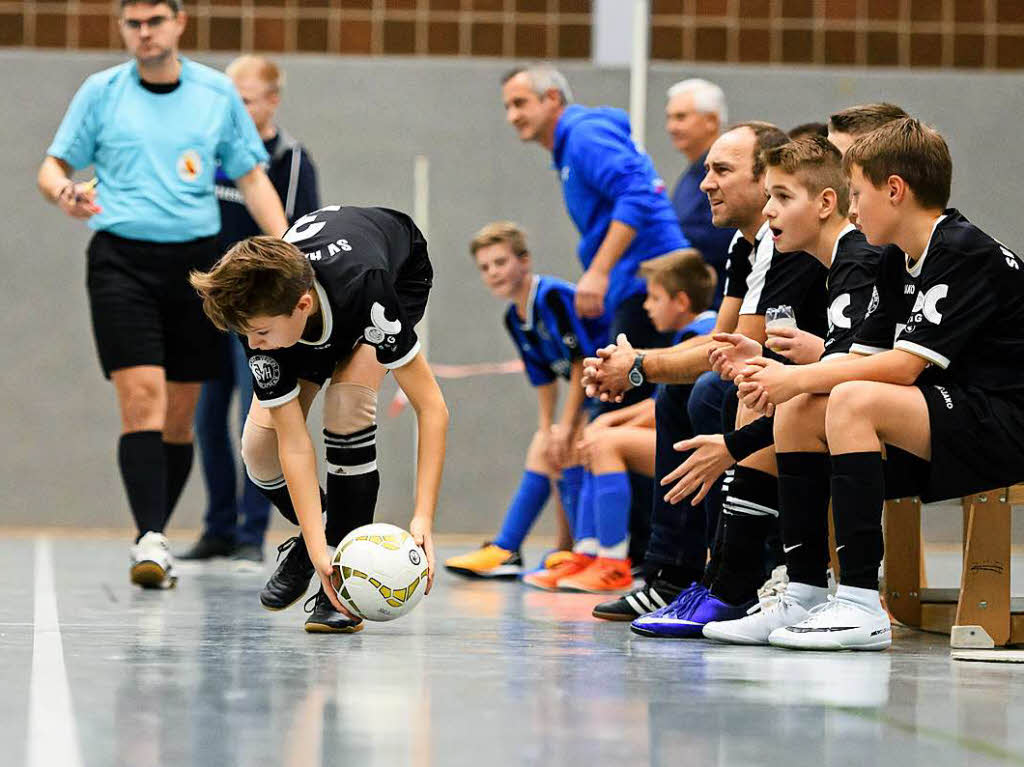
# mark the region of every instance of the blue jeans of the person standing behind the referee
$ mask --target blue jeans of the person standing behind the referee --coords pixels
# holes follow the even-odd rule
[[[231,393],[237,390],[239,422],[245,426],[252,402],[252,379],[245,349],[234,336],[224,337],[228,357],[220,378],[203,384],[196,408],[196,441],[199,443],[206,484],[207,507],[204,534],[239,545],[263,545],[270,518],[270,503],[249,476],[242,473],[242,496],[238,495],[239,471],[229,429]]]

